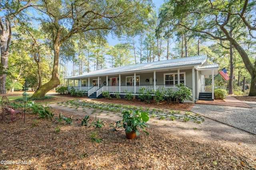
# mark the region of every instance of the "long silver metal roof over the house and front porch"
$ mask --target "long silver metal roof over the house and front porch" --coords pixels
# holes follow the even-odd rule
[[[192,57],[184,57],[178,59],[170,59],[164,61],[155,61],[151,63],[142,63],[136,65],[126,65],[122,67],[113,67],[108,69],[91,71],[89,73],[83,75],[77,75],[72,77],[66,77],[65,79],[76,79],[76,78],[84,78],[84,77],[95,77],[95,76],[103,76],[103,75],[113,75],[113,74],[121,74],[121,73],[131,73],[138,71],[150,71],[156,69],[166,69],[172,67],[183,67],[183,66],[196,66],[202,65],[206,62],[207,55],[197,55]]]

